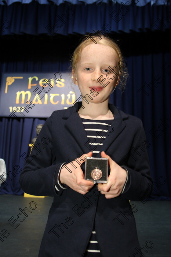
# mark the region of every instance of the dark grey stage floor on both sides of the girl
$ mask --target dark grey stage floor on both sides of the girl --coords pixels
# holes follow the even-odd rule
[[[35,203],[31,202],[35,202],[37,207]],[[0,256],[38,256],[39,246],[52,202],[53,197],[25,198],[23,196],[0,195],[0,232],[4,237],[8,236],[3,238],[0,235]],[[142,202],[131,201],[131,204],[138,208],[136,213],[134,213],[134,217],[136,219],[140,246],[148,251],[146,255],[142,256],[171,257],[171,202],[147,201],[143,204]],[[17,220],[17,215],[21,212],[19,208],[23,210],[25,207],[29,208],[31,213],[27,211],[28,217],[23,222],[19,222]],[[23,217],[24,215],[18,216],[19,219],[23,219]],[[12,218],[11,223],[16,219],[16,222],[13,223],[13,226],[16,226],[16,228],[9,224],[8,220],[10,218]],[[125,222],[127,222],[126,219]],[[18,225],[19,223],[20,225]],[[3,230],[7,230],[7,232],[5,233]],[[151,241],[153,247],[147,241]],[[140,257],[140,255],[136,256]],[[75,256],[71,254],[71,257]]]

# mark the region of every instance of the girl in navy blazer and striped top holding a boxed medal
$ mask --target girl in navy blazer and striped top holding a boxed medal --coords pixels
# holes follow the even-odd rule
[[[39,257],[127,257],[140,248],[137,208],[129,199],[151,191],[147,151],[141,147],[144,129],[139,118],[109,104],[119,80],[122,90],[126,80],[119,47],[104,35],[91,38],[84,38],[72,57],[82,103],[47,119],[35,142],[41,154],[27,158],[20,176],[24,192],[54,196]],[[47,145],[40,149],[45,137]],[[107,183],[84,179],[86,157],[108,158]]]

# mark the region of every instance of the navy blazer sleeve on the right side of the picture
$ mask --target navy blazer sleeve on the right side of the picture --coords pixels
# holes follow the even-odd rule
[[[153,180],[147,154],[150,143],[146,140],[140,119],[138,119],[138,123],[132,147],[126,154],[127,165],[122,165],[128,170],[128,181],[121,196],[133,201],[147,199],[153,190]]]

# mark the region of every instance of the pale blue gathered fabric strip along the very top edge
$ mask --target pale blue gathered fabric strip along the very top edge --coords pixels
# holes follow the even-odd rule
[[[12,3],[21,3],[21,4],[29,4],[31,3],[33,0],[0,0],[0,5],[11,5]],[[56,5],[60,5],[61,3],[65,3],[68,2],[70,4],[100,4],[100,3],[107,3],[109,4],[110,2],[113,3],[126,3],[128,2],[127,0],[36,0],[39,4],[56,4]],[[130,0],[130,3],[135,3],[137,6],[144,6],[147,3],[150,3],[151,6],[153,5],[168,5],[170,4],[169,0]]]

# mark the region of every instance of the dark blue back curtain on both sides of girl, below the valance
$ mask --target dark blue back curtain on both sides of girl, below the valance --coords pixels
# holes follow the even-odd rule
[[[111,36],[119,39],[119,34]],[[124,53],[130,77],[122,97],[116,89],[110,102],[124,112],[142,119],[148,140],[151,174],[158,185],[155,186],[157,190],[152,198],[170,200],[171,52],[168,37],[167,32],[122,35],[118,43]],[[67,71],[70,54],[78,43],[78,36],[32,39],[28,36],[5,36],[1,42],[3,52],[0,76],[2,72],[55,73]],[[35,137],[35,127],[44,122],[45,119],[37,118],[21,118],[20,122],[15,118],[0,118],[0,158],[5,160],[8,173],[13,172],[15,165],[24,167],[20,155],[29,153],[28,144]],[[144,146],[140,147],[143,149]],[[1,185],[0,194],[22,194],[18,183],[19,175],[20,173],[14,177],[10,174],[12,181],[7,179],[8,186],[4,183]]]

